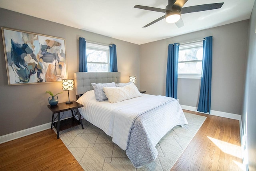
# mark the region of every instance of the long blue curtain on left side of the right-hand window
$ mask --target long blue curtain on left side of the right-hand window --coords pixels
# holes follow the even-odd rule
[[[180,45],[177,43],[168,46],[165,95],[175,99],[177,99],[179,47]]]

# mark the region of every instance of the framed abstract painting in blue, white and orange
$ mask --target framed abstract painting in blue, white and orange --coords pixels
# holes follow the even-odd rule
[[[65,39],[2,28],[9,85],[67,79]]]

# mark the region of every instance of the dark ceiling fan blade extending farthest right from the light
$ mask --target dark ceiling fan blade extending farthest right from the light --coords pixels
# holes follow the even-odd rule
[[[219,9],[219,8],[222,7],[223,4],[224,4],[224,2],[215,3],[215,4],[204,4],[204,5],[188,6],[188,7],[181,8],[180,14]]]

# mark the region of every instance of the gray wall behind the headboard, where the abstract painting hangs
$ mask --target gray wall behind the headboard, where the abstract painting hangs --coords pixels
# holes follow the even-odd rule
[[[26,16],[0,8],[0,27],[24,30],[66,39],[66,60],[68,78],[74,78],[78,72],[78,39],[116,44],[118,71],[121,82],[128,82],[129,76],[137,76],[136,85],[140,85],[140,49],[139,45],[94,34],[84,30],[49,22],[32,16]],[[49,95],[46,90],[58,93],[62,91],[61,82],[8,85],[2,32],[0,39],[0,136],[30,127],[51,122],[52,113],[47,108]],[[68,101],[68,92],[58,95],[59,102]],[[75,100],[75,92],[70,91],[70,100]],[[69,115],[70,113],[68,113]],[[71,114],[70,114],[71,115]]]

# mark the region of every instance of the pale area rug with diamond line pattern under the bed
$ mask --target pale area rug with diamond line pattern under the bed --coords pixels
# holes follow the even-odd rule
[[[112,142],[112,137],[85,119],[82,119],[84,129],[78,125],[60,131],[60,139],[86,171],[170,171],[206,119],[184,114],[188,125],[172,128],[156,145],[156,160],[138,169],[125,151]]]

